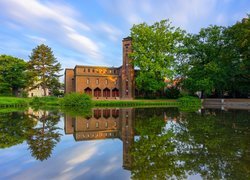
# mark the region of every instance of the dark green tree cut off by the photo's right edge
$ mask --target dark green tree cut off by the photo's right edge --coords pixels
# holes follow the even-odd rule
[[[229,27],[226,32],[224,59],[230,65],[229,91],[232,96],[247,97],[250,93],[250,15]]]

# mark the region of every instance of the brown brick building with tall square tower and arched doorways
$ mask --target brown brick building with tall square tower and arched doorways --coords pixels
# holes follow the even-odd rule
[[[95,99],[134,99],[135,71],[128,54],[131,38],[122,41],[123,63],[120,67],[76,65],[65,69],[65,93],[84,92]]]

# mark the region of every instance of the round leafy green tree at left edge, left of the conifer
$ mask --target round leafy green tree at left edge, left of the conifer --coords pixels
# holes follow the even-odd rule
[[[10,92],[18,96],[20,89],[26,88],[30,81],[27,63],[19,58],[0,55],[0,93]]]

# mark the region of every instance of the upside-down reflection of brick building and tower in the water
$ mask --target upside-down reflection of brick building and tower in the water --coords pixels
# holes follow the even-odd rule
[[[129,148],[134,141],[134,109],[92,109],[90,117],[65,115],[65,134],[76,141],[119,138],[123,142],[123,167],[130,169]]]

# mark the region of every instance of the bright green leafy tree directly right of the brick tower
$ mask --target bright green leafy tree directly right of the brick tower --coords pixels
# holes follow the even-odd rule
[[[184,32],[171,26],[168,20],[134,25],[131,29],[134,66],[140,68],[136,77],[138,89],[156,92],[165,86],[164,78],[173,76],[174,57]]]

